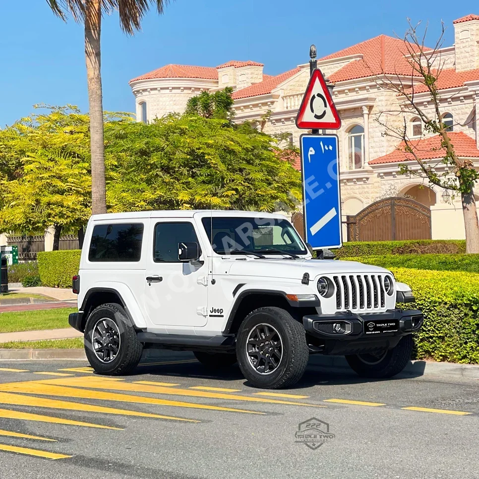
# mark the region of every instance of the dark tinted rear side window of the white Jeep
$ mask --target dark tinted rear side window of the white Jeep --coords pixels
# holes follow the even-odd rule
[[[139,261],[142,240],[142,223],[96,225],[88,259],[96,262]]]

